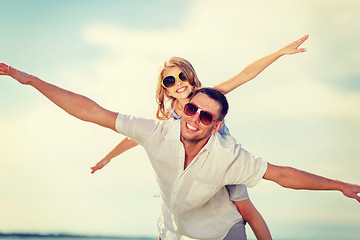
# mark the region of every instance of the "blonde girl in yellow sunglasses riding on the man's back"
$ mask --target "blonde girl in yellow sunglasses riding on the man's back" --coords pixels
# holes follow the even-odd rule
[[[214,88],[223,94],[229,93],[238,86],[256,77],[279,57],[304,52],[305,49],[298,49],[298,47],[307,38],[308,35],[305,35],[278,51],[253,62],[239,74],[214,86]],[[159,74],[156,90],[156,101],[158,103],[156,117],[161,120],[171,117],[180,119],[184,105],[189,102],[189,96],[191,96],[191,94],[199,87],[201,87],[201,82],[199,81],[192,65],[182,58],[170,58],[164,63]],[[223,125],[219,134],[229,135],[230,133],[227,127]],[[124,138],[111,152],[109,152],[101,161],[91,168],[91,173],[95,173],[97,170],[102,169],[111,161],[111,159],[136,145],[137,143],[135,141]],[[231,185],[227,186],[227,189],[230,194],[230,199],[235,203],[243,219],[250,224],[257,239],[271,239],[270,231],[264,219],[248,198],[246,187],[243,185]],[[159,226],[160,225],[161,223]],[[159,228],[161,231],[161,227]],[[243,234],[242,237],[246,239],[245,223],[242,223],[240,228],[242,228],[242,230],[240,230],[241,233],[238,234]]]

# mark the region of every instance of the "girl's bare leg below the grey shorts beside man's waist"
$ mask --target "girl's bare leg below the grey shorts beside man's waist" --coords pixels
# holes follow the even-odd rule
[[[258,240],[271,240],[271,234],[264,218],[252,204],[250,199],[243,201],[234,202],[241,216],[246,222],[249,223],[251,229],[253,230],[256,239]]]

